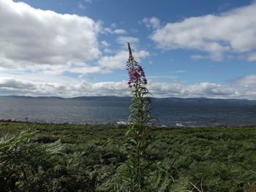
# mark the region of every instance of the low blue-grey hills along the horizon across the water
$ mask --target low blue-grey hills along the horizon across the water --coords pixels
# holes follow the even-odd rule
[[[59,96],[0,96],[0,98],[10,98],[10,99],[72,99],[72,100],[94,100],[94,101],[129,101],[130,97],[118,97],[118,96],[79,96],[73,98],[62,98]],[[246,104],[246,105],[256,105],[256,100],[248,99],[208,99],[208,98],[152,98],[153,101],[162,101],[175,104]]]

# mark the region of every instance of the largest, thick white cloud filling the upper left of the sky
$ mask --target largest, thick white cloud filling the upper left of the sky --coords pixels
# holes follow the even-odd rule
[[[0,1],[0,9],[0,69],[64,72],[100,54],[100,26],[91,18],[12,0]]]

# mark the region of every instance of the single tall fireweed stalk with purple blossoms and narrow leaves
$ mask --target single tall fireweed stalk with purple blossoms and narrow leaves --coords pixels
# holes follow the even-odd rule
[[[135,61],[131,47],[128,43],[129,60],[127,71],[129,74],[129,88],[132,88],[132,104],[129,107],[129,126],[125,135],[125,147],[128,152],[128,161],[124,172],[127,175],[126,185],[131,192],[143,191],[148,186],[151,160],[151,128],[150,115],[151,99],[146,97],[149,93],[146,88],[147,80],[143,68]]]

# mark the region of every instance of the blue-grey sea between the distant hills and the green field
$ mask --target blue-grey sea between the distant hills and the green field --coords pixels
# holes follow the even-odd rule
[[[127,121],[129,99],[0,99],[0,120],[116,124]],[[154,101],[162,126],[255,126],[255,105],[171,104]]]

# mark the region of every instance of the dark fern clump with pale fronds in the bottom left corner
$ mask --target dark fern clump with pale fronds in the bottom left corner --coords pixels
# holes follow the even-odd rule
[[[35,145],[35,132],[0,139],[1,191],[94,191],[93,172],[83,169],[80,157],[61,153],[60,140]]]

